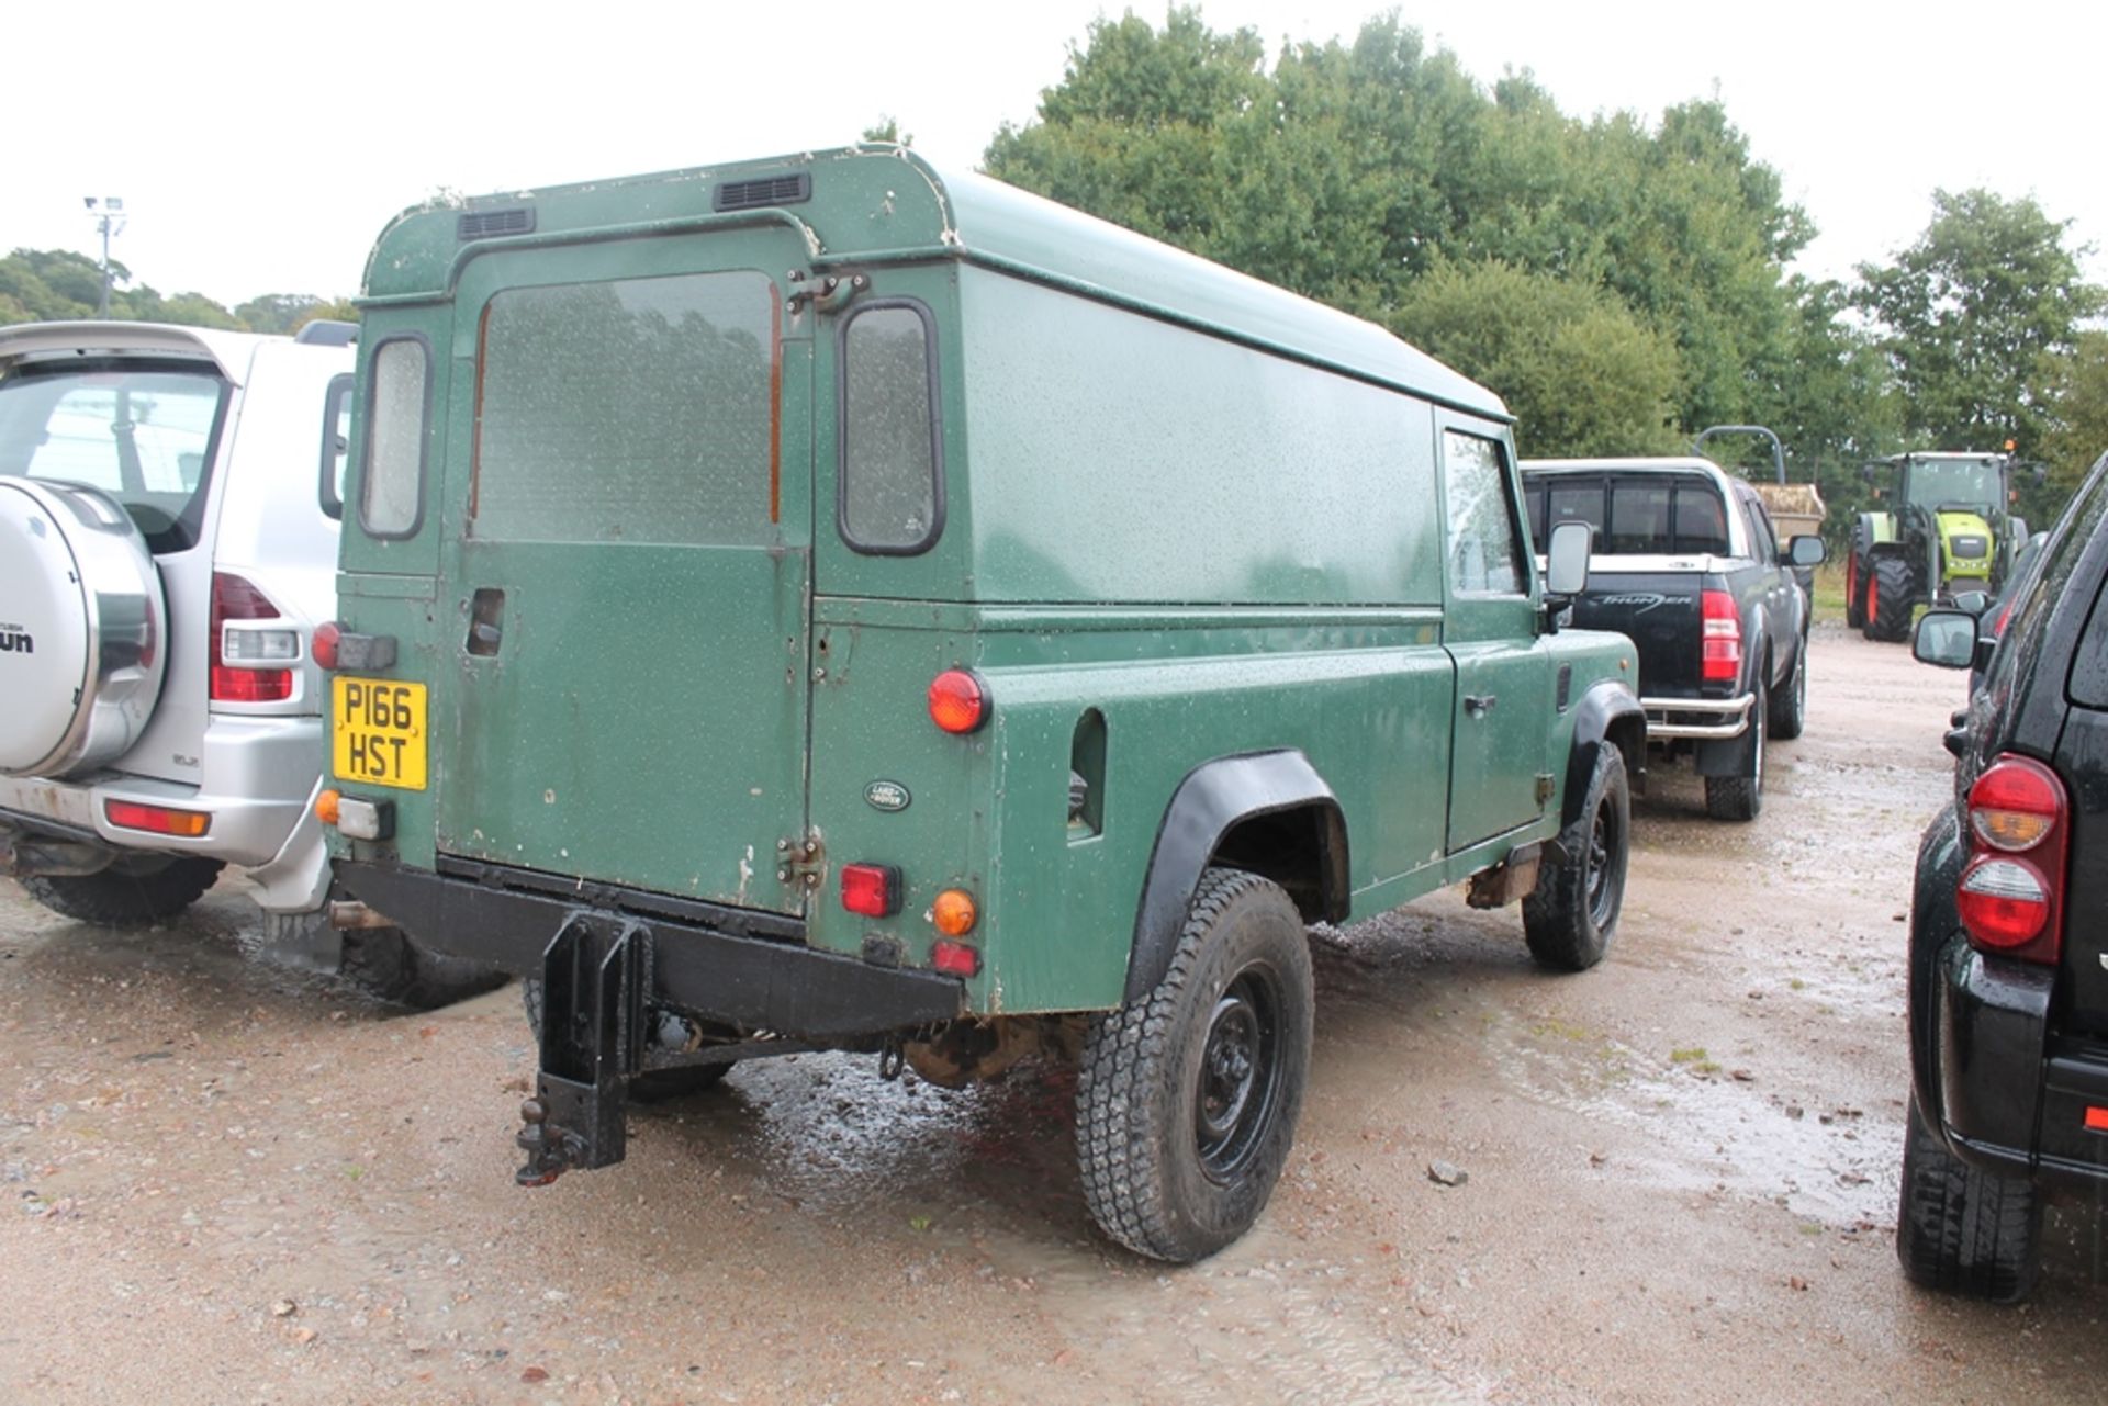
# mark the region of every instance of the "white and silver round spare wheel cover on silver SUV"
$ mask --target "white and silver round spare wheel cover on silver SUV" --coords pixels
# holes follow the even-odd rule
[[[0,774],[122,757],[167,668],[154,554],[99,489],[0,479]]]

